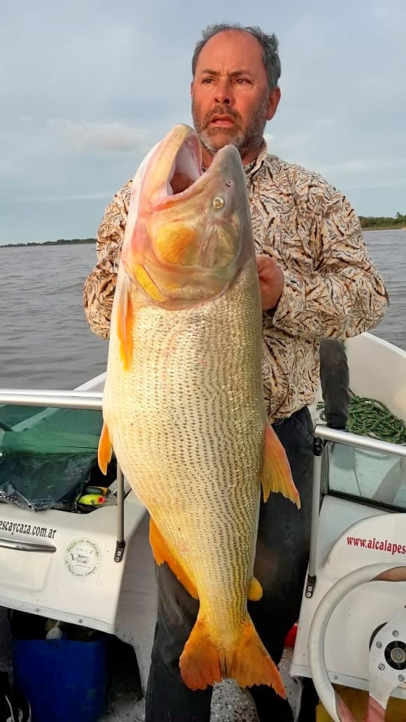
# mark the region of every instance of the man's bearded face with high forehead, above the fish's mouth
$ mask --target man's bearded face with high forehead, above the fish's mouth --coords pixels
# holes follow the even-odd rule
[[[198,57],[191,94],[203,149],[213,156],[234,144],[243,161],[254,160],[281,96],[278,88],[269,90],[257,39],[239,30],[214,35]]]

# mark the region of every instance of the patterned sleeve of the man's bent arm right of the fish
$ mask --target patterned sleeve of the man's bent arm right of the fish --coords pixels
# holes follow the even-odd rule
[[[356,213],[341,193],[327,188],[330,197],[314,237],[321,248],[317,270],[303,274],[283,269],[281,297],[270,313],[273,325],[288,334],[344,339],[376,326],[387,312],[389,297],[369,258]],[[263,299],[263,288],[261,292]]]

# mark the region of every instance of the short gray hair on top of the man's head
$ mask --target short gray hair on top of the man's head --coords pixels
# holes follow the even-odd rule
[[[196,43],[195,51],[193,53],[193,78],[195,77],[196,65],[198,63],[198,57],[200,55],[200,52],[203,50],[208,40],[211,40],[214,35],[218,35],[219,32],[224,32],[224,30],[241,30],[242,32],[250,32],[250,34],[257,39],[258,43],[260,43],[262,47],[262,58],[264,61],[265,70],[267,71],[270,90],[278,87],[278,80],[281,77],[281,60],[278,55],[278,38],[274,33],[272,35],[267,35],[257,25],[249,25],[248,27],[244,27],[243,25],[240,25],[239,22],[215,23],[213,25],[208,25],[208,27],[203,30],[202,37],[200,40],[198,40],[198,43]]]

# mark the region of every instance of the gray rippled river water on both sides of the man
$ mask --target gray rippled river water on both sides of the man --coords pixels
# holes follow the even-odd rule
[[[406,230],[365,233],[391,305],[374,333],[406,350]],[[107,342],[84,317],[94,245],[0,248],[0,387],[75,388],[105,370]]]

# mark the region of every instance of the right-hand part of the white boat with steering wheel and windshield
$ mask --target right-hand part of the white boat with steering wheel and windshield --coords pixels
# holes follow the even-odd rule
[[[406,352],[372,334],[346,349],[353,393],[406,423]],[[290,673],[312,678],[335,722],[332,683],[369,690],[376,716],[368,719],[379,722],[378,705],[384,710],[391,695],[406,699],[406,436],[388,443],[322,425],[314,436],[309,575]],[[397,583],[376,580],[391,578],[393,567]]]

